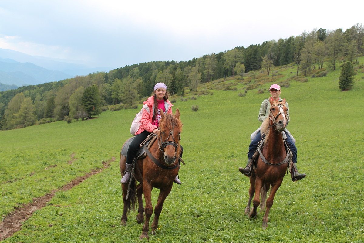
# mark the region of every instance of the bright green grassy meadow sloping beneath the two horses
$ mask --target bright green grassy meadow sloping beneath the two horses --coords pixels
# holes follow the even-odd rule
[[[360,59],[360,63],[364,58]],[[296,67],[279,70],[284,81]],[[291,73],[293,72],[293,74]],[[296,138],[298,170],[307,177],[292,183],[286,175],[262,230],[262,212],[244,215],[249,179],[246,164],[250,134],[260,126],[258,111],[273,82],[248,90],[209,90],[181,101],[184,148],[179,176],[163,206],[157,235],[149,242],[364,242],[364,72],[353,89],[339,90],[339,74],[290,81],[282,87],[290,109],[288,129]],[[245,81],[249,77],[245,77]],[[276,82],[279,82],[276,81]],[[214,81],[219,82],[219,81]],[[204,89],[208,85],[202,85]],[[189,96],[191,98],[191,95]],[[185,97],[186,98],[186,97]],[[199,110],[191,110],[198,105]],[[138,109],[139,110],[139,109]],[[0,132],[0,215],[60,188],[92,169],[110,167],[68,191],[24,222],[5,243],[139,242],[137,212],[120,226],[122,193],[119,152],[138,110],[106,111],[87,121],[54,122]],[[116,158],[115,161],[113,158]],[[153,190],[155,205],[159,190]],[[153,216],[152,218],[153,219]]]

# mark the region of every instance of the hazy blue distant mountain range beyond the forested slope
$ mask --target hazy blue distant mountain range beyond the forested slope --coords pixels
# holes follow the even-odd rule
[[[65,59],[31,56],[0,48],[0,91],[60,81],[98,71],[108,72],[111,69],[109,67],[90,68]]]

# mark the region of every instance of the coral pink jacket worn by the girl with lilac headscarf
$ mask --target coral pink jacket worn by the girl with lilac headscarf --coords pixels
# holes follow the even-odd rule
[[[150,113],[148,113],[147,110],[143,109],[142,113],[142,124],[139,128],[139,130],[135,133],[135,135],[143,132],[146,130],[147,132],[152,133],[154,129],[157,128],[157,126],[152,124],[152,119],[154,115],[154,99],[153,96],[149,97],[145,102],[143,102],[144,105],[147,105],[149,107]],[[166,107],[167,113],[172,114],[172,103],[169,102],[169,100],[164,102],[164,106]]]

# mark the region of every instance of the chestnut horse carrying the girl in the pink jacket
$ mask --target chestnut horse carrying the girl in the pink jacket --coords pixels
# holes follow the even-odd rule
[[[131,209],[135,209],[135,205],[137,204],[136,201],[138,200],[137,222],[144,222],[143,231],[139,239],[149,239],[149,219],[153,213],[151,202],[152,189],[158,188],[160,190],[158,201],[154,208],[154,221],[151,231],[151,234],[155,235],[163,203],[169,195],[173,186],[173,181],[178,174],[179,154],[181,151],[179,136],[182,131],[182,123],[179,120],[179,110],[177,109],[175,111],[175,115],[165,115],[162,111],[159,129],[158,139],[154,141],[149,149],[154,158],[146,156],[136,161],[137,164],[134,169],[134,177],[130,178],[131,187],[127,199],[128,184],[122,184],[124,208],[121,224],[126,226],[127,213]],[[155,159],[157,159],[156,162],[153,161]],[[158,162],[159,165],[157,165]],[[122,176],[125,173],[125,164],[126,157],[120,156],[120,172]],[[139,182],[138,185],[135,180]],[[144,194],[145,207],[143,207],[142,194]],[[143,213],[145,213],[145,221]]]

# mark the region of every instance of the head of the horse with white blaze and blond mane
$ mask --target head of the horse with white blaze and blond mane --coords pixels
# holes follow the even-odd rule
[[[286,99],[284,98],[282,102],[272,101],[272,99],[269,99],[269,102],[270,126],[274,126],[278,131],[283,131],[288,125],[288,108],[285,106]]]

